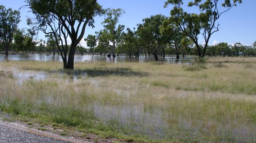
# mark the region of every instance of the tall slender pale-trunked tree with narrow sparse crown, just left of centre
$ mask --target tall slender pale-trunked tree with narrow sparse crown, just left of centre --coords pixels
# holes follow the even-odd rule
[[[107,9],[106,17],[102,22],[106,36],[108,40],[111,42],[111,51],[108,57],[115,56],[115,50],[117,46],[120,44],[122,39],[122,34],[124,30],[124,25],[120,25],[119,19],[125,12],[122,9]]]

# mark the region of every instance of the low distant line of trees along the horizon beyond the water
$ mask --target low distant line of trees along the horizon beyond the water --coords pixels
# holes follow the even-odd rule
[[[11,42],[10,44],[10,51],[15,52],[52,52],[52,53],[58,53],[58,49],[55,45],[50,45],[49,42],[45,41],[39,41],[39,42],[32,42],[31,46],[28,46],[27,48],[19,47],[20,45],[15,44],[15,42]],[[201,49],[203,49],[203,46],[200,45]],[[67,47],[70,48],[70,45]],[[179,47],[180,54],[182,57],[185,57],[185,55],[198,55],[197,48],[193,46],[189,47]],[[4,47],[2,44],[0,44],[0,51],[4,51]],[[89,48],[86,49],[80,45],[77,46],[78,54],[109,54],[109,49],[105,48],[103,49],[100,46],[95,47],[94,49]],[[153,52],[146,51],[143,47],[126,47],[125,45],[119,45],[116,49],[117,55],[126,55],[127,57],[138,57],[138,56],[152,56]],[[165,51],[157,51],[157,55],[164,57],[165,55],[177,55],[177,50],[167,45],[165,48]],[[231,57],[238,57],[238,56],[256,56],[256,47],[254,46],[245,46],[241,43],[235,43],[234,45],[228,45],[226,42],[219,43],[217,45],[209,46],[208,50],[206,51],[207,56],[231,56]]]

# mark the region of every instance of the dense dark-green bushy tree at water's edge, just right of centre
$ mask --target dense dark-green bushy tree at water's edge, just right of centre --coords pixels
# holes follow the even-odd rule
[[[160,28],[167,18],[163,15],[155,15],[143,19],[143,24],[138,24],[137,35],[147,47],[153,51],[155,60],[158,61],[157,53],[162,47],[166,47],[167,37],[161,34]]]

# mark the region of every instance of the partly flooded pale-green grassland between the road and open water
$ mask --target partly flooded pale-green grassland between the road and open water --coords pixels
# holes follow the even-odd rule
[[[134,142],[255,142],[256,58],[193,65],[0,62],[15,120]],[[44,129],[42,127],[41,129]],[[45,129],[47,130],[47,129]]]

